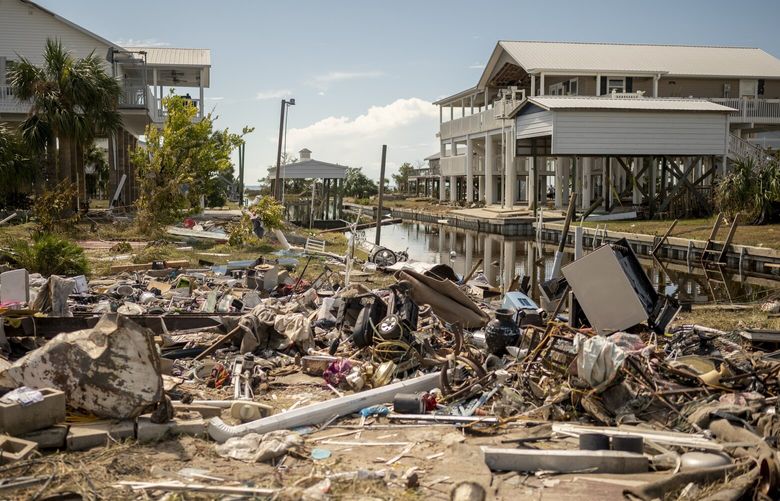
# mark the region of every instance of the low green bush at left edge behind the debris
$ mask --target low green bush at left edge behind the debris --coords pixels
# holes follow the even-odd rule
[[[50,233],[36,235],[32,242],[15,240],[3,254],[19,268],[43,276],[73,276],[89,272],[84,249],[75,242]]]

